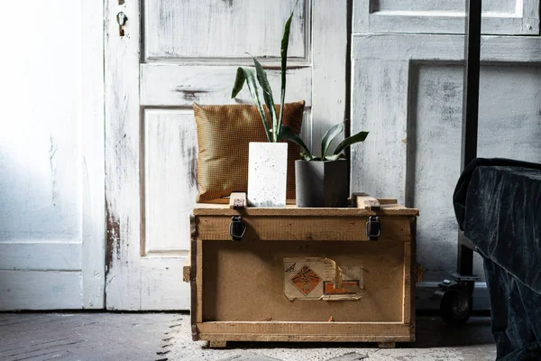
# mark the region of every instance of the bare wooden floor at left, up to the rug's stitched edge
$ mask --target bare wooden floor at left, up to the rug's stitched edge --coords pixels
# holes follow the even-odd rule
[[[180,316],[0,313],[0,360],[164,360]]]

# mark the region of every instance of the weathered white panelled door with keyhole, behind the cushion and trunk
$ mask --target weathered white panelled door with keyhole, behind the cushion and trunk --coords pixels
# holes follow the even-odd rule
[[[197,190],[192,103],[231,100],[245,51],[271,67],[295,0],[106,0],[106,305],[188,310],[182,264]],[[124,36],[116,23],[127,16]],[[347,1],[300,1],[292,23],[286,100],[304,99],[308,145],[344,120]]]

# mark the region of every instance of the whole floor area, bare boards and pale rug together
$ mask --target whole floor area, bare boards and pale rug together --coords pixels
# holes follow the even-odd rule
[[[231,342],[211,349],[191,340],[188,313],[0,313],[0,361],[492,361],[491,319],[450,328],[417,315],[417,342]]]

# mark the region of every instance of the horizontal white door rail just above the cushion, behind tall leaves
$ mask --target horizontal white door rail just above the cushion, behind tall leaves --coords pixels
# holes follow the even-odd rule
[[[142,64],[141,104],[143,106],[192,106],[198,104],[252,104],[248,91],[231,99],[237,66],[195,66]],[[280,99],[280,69],[267,70],[274,97]],[[286,102],[304,99],[312,106],[312,69],[288,70]],[[157,86],[159,85],[159,86]],[[276,99],[275,99],[276,100]]]

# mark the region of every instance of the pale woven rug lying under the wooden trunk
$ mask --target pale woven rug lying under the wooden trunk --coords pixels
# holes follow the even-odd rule
[[[490,319],[487,318],[472,319],[463,329],[447,328],[438,318],[422,319],[421,324],[417,326],[417,343],[399,344],[397,348],[378,348],[373,343],[228,342],[225,349],[211,349],[207,347],[206,341],[191,340],[189,322],[189,315],[182,315],[175,321],[168,335],[165,335],[167,347],[164,350],[167,353],[162,354],[162,358],[158,359],[164,361],[488,361],[494,360],[496,356],[491,338]],[[461,342],[462,339],[463,342]]]

